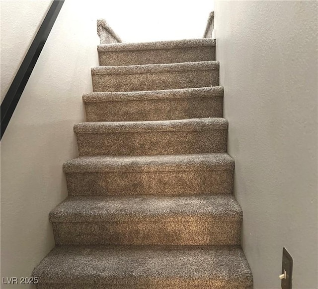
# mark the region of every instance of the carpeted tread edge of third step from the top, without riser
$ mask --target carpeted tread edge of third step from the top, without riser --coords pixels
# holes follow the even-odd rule
[[[145,91],[91,92],[83,94],[83,102],[136,101],[223,96],[222,86]]]

